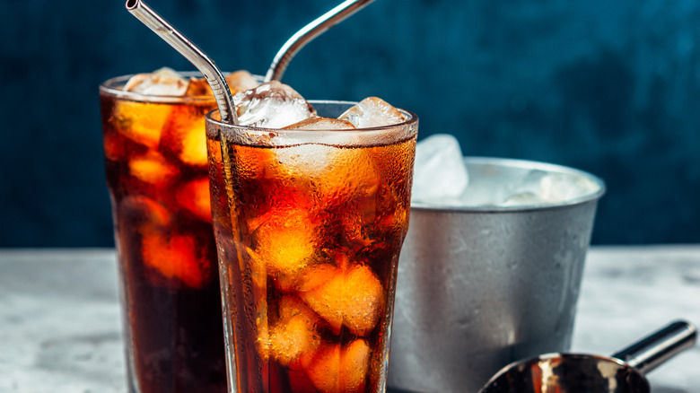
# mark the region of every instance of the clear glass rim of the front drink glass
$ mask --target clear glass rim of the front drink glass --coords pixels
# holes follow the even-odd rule
[[[311,103],[314,108],[318,104],[332,104],[332,105],[348,105],[348,106],[353,106],[357,104],[357,101],[348,101],[348,100],[307,100],[309,103]],[[404,128],[404,127],[412,127],[418,123],[418,116],[416,113],[407,110],[407,109],[400,109],[397,108],[398,111],[400,111],[404,116],[407,117],[406,120],[400,122],[400,123],[395,123],[391,124],[389,126],[380,126],[380,127],[364,127],[364,128],[351,128],[351,129],[313,129],[313,130],[305,130],[305,129],[284,129],[283,128],[269,128],[269,127],[253,127],[253,126],[240,126],[240,125],[232,125],[229,123],[224,123],[221,119],[219,118],[214,118],[213,115],[216,114],[217,117],[219,117],[219,109],[212,109],[205,114],[206,118],[206,123],[207,124],[214,124],[216,127],[223,127],[223,128],[229,128],[229,129],[241,129],[245,130],[246,132],[251,132],[259,135],[269,135],[270,133],[272,134],[289,134],[289,135],[294,135],[294,134],[303,134],[303,135],[314,135],[314,134],[319,134],[319,133],[335,133],[335,134],[361,134],[361,133],[369,133],[369,132],[381,132],[381,131],[386,131],[389,129],[393,128]],[[410,136],[410,135],[408,135]]]

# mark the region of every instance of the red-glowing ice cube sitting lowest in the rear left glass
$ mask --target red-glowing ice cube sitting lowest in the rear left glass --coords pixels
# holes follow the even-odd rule
[[[189,287],[201,288],[211,279],[210,262],[199,255],[197,243],[191,236],[166,238],[164,232],[144,233],[142,252],[145,265]]]

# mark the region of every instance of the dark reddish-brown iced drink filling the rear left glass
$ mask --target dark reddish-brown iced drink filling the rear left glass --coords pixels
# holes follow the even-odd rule
[[[134,393],[226,391],[206,151],[192,149],[214,107],[101,94]]]

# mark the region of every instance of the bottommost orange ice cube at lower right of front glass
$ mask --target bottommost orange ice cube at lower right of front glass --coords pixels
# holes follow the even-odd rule
[[[322,393],[356,393],[364,389],[369,363],[370,345],[359,338],[346,347],[340,344],[322,347],[307,374]]]

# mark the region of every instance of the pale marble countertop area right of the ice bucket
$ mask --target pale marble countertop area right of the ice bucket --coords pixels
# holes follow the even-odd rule
[[[673,319],[700,325],[700,246],[591,249],[574,351],[613,354]],[[647,379],[653,393],[700,392],[700,345]]]

